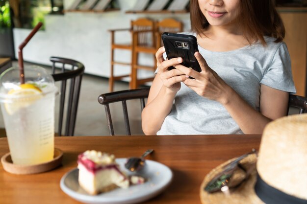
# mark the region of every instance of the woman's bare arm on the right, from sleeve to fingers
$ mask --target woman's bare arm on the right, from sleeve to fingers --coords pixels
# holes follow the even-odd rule
[[[183,83],[199,95],[220,102],[230,113],[245,134],[261,134],[265,125],[273,119],[286,115],[288,92],[261,85],[260,113],[253,109],[241,96],[227,85],[205,62],[199,52],[195,57],[202,68],[197,72],[177,65],[176,68],[192,76]]]

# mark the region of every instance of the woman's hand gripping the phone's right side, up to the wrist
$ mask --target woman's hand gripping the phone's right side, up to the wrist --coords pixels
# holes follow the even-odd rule
[[[202,69],[201,72],[182,65],[175,66],[175,68],[179,69],[184,74],[194,78],[186,79],[183,83],[205,98],[226,104],[231,92],[230,86],[228,86],[214,70],[209,68],[205,59],[199,52],[195,52],[194,56]]]

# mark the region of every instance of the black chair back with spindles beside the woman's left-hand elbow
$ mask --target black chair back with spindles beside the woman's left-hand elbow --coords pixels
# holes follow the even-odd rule
[[[149,88],[145,88],[145,89],[134,89],[134,90],[109,92],[109,93],[101,94],[98,97],[98,102],[104,105],[106,119],[107,119],[109,132],[111,136],[114,136],[114,129],[113,129],[113,123],[112,123],[109,104],[114,103],[114,102],[120,102],[120,101],[122,102],[126,135],[131,135],[126,101],[132,100],[132,99],[140,99],[141,100],[141,111],[142,111],[143,108],[145,107],[145,98],[148,97],[148,94],[149,94]]]

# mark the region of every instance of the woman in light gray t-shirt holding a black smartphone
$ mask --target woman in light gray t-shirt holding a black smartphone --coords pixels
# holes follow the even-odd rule
[[[295,87],[274,0],[191,0],[190,17],[193,32],[185,34],[197,38],[202,71],[164,60],[159,48],[144,133],[261,134],[286,115]]]

